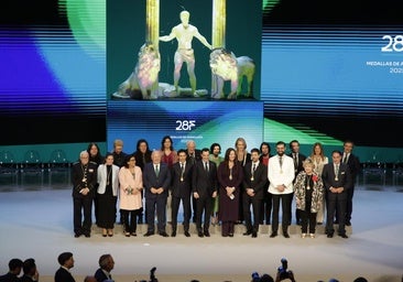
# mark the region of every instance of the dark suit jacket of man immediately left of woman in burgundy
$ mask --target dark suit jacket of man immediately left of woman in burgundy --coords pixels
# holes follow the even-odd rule
[[[211,197],[217,192],[217,166],[214,162],[208,162],[208,172],[205,171],[203,161],[198,161],[193,166],[192,191],[197,192],[199,197]]]

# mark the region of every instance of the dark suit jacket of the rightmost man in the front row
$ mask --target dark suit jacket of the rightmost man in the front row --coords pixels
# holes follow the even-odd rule
[[[322,172],[322,178],[324,181],[324,186],[327,195],[333,195],[333,193],[329,193],[330,187],[344,187],[345,191],[340,194],[337,194],[340,195],[340,197],[346,196],[346,191],[351,188],[350,169],[346,163],[340,163],[337,180],[335,174],[335,164],[325,164],[324,171]]]

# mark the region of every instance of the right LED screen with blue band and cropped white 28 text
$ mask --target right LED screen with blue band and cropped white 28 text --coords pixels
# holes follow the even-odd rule
[[[266,123],[283,124],[301,139],[401,147],[402,2],[263,2]]]

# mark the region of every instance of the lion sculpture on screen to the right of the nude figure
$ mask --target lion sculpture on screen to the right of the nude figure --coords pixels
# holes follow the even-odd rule
[[[252,98],[253,76],[255,72],[255,64],[252,58],[248,56],[236,57],[236,55],[226,48],[215,48],[210,53],[210,68],[214,74],[214,89],[211,90],[211,98],[225,98],[224,83],[231,83],[231,90],[228,99],[237,99],[241,94],[243,78],[247,78],[248,93],[246,97]]]

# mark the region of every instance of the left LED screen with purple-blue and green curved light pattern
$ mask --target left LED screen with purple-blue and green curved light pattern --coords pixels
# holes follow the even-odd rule
[[[106,3],[2,1],[1,144],[106,140]]]

